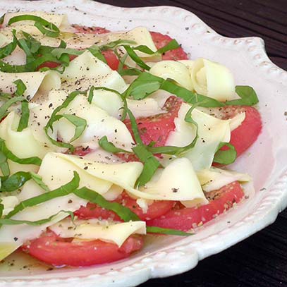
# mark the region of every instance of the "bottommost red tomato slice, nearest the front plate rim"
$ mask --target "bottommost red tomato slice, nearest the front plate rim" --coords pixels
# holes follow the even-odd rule
[[[143,239],[141,236],[130,236],[121,245],[121,248],[118,248],[118,245],[106,243],[102,240],[72,243],[71,239],[60,238],[54,232],[47,231],[41,237],[30,240],[30,242],[23,245],[22,249],[32,257],[54,266],[81,267],[126,258],[130,253],[140,250],[142,245]]]

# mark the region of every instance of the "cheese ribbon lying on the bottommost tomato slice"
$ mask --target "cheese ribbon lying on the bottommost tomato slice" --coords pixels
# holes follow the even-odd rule
[[[99,220],[64,219],[49,227],[51,231],[62,238],[104,240],[121,245],[132,234],[146,234],[145,221],[130,221],[123,223],[109,223]]]

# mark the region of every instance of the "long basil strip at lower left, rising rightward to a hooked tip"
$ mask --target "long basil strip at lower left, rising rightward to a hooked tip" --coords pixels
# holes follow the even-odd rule
[[[31,197],[28,200],[23,200],[23,202],[20,202],[18,205],[16,205],[16,207],[14,207],[14,209],[9,212],[5,218],[11,218],[15,214],[18,214],[18,212],[21,212],[26,207],[33,207],[37,204],[47,202],[48,200],[52,200],[56,197],[69,195],[70,193],[73,193],[76,188],[78,188],[79,183],[80,177],[78,173],[74,171],[74,177],[69,183],[67,183],[66,185],[62,185],[60,188],[57,188],[55,190],[51,190],[49,191],[49,193],[43,193],[42,195]]]

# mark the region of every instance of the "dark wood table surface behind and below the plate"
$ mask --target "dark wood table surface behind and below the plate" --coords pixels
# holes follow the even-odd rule
[[[287,70],[287,0],[101,2],[126,7],[168,5],[185,8],[221,35],[262,37],[270,59]],[[202,260],[195,269],[140,285],[149,286],[287,287],[287,209],[271,226],[218,255]]]

